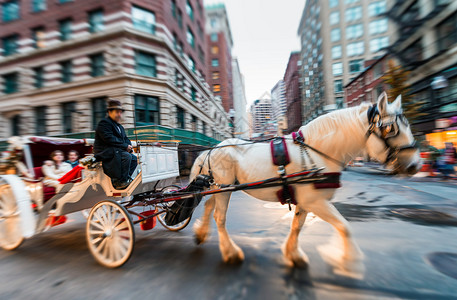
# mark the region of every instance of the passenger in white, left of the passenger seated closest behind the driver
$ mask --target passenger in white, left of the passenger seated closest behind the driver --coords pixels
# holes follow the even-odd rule
[[[65,175],[67,172],[71,171],[71,165],[64,162],[64,154],[60,150],[56,150],[51,153],[51,159],[44,162],[42,167],[44,174],[43,183],[47,186],[52,186],[56,189],[56,192],[59,192],[63,187],[63,184],[60,184],[59,178]]]

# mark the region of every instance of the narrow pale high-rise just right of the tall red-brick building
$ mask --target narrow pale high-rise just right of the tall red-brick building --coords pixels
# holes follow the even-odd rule
[[[244,86],[244,77],[241,74],[238,59],[232,59],[233,72],[233,128],[234,136],[249,138],[249,120],[246,111],[246,90]]]

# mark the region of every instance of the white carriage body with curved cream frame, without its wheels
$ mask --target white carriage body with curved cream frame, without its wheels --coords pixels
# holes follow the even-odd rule
[[[52,140],[53,138],[46,138]],[[69,139],[55,139],[64,143]],[[33,165],[31,166],[30,151],[27,147],[28,143],[33,143],[29,137],[24,137],[24,157],[27,162],[27,167],[33,172]],[[85,140],[87,144],[92,144],[93,140]],[[134,146],[135,143],[134,143]],[[178,164],[178,147],[176,144],[161,146],[157,144],[140,145],[140,152],[136,155],[139,158],[139,164],[134,174],[132,175],[133,181],[124,190],[116,190],[109,178],[104,172],[101,163],[95,163],[89,168],[82,170],[82,180],[76,183],[68,183],[64,185],[62,190],[46,202],[42,211],[34,215],[31,210],[32,200],[41,196],[41,182],[27,182],[20,188],[28,191],[27,197],[20,193],[18,195],[17,188],[13,187],[13,192],[16,199],[21,199],[21,205],[18,207],[19,214],[27,219],[22,222],[22,232],[24,237],[31,237],[33,234],[42,232],[46,228],[46,220],[48,212],[55,208],[53,211],[54,216],[66,215],[72,212],[81,211],[84,209],[92,208],[96,203],[102,200],[127,200],[136,194],[141,194],[154,189],[160,189],[173,183],[175,178],[179,176]],[[56,150],[58,147],[56,147]],[[33,155],[33,154],[32,154]],[[4,178],[5,176],[13,176],[18,180],[12,178]],[[0,175],[0,178],[5,179],[10,184],[21,182],[16,175]],[[25,199],[27,198],[27,199]],[[23,203],[23,202],[28,203]]]

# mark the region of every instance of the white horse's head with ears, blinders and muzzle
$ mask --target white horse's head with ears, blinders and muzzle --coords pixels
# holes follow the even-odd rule
[[[391,167],[395,173],[414,175],[421,168],[419,150],[406,116],[401,95],[388,103],[382,93],[378,102],[368,109],[367,150],[370,157]]]

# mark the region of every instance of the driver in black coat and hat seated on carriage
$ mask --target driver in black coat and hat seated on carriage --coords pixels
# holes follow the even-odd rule
[[[111,177],[113,186],[125,189],[132,181],[131,175],[138,164],[133,154],[132,142],[119,124],[124,108],[117,99],[108,100],[108,116],[95,129],[94,154],[103,162],[103,171]]]

